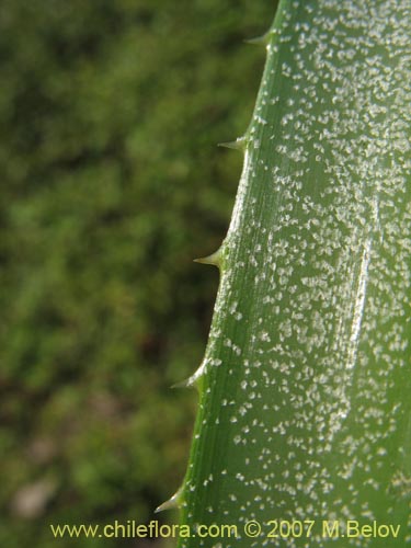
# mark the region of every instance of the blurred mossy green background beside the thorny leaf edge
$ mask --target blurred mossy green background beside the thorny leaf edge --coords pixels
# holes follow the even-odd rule
[[[0,3],[0,546],[179,487],[274,4]]]

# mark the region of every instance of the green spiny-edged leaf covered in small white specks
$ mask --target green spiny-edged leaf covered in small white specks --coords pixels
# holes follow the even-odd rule
[[[272,520],[315,521],[287,546],[411,539],[410,39],[408,0],[278,7],[180,495],[238,538],[181,548],[277,546]]]

